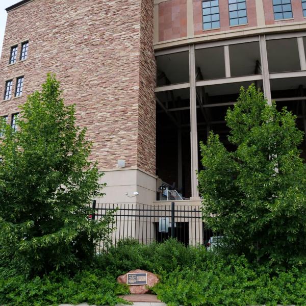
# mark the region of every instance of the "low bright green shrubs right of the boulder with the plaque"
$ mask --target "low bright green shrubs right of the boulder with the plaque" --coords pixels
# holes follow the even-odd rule
[[[305,305],[306,277],[298,270],[278,272],[252,266],[244,257],[212,259],[206,270],[197,266],[161,274],[153,291],[176,305]]]

